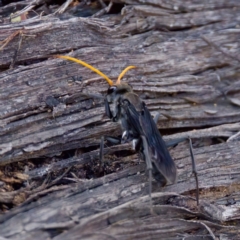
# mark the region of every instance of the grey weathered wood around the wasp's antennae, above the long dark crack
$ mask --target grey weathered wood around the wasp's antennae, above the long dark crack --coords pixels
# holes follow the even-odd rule
[[[99,24],[94,25],[96,20],[75,18],[50,22],[51,20],[47,25],[43,24],[45,27],[42,29],[34,25],[39,33],[35,38],[30,37],[23,42],[29,46],[28,49],[33,49],[33,46],[37,48],[30,51],[31,57],[28,51],[20,51],[18,61],[49,54],[48,49],[56,45],[55,36],[61,36],[64,32],[65,37],[60,37],[59,40],[60,47],[54,48],[50,53],[66,51],[67,48],[63,49],[63,46],[81,48],[76,51],[76,57],[93,64],[112,78],[129,64],[138,66],[136,71],[129,73],[128,81],[136,92],[144,93],[143,97],[153,98],[146,100],[146,103],[149,102],[150,110],[160,110],[164,116],[159,121],[160,128],[203,127],[239,121],[239,106],[226,101],[223,94],[226,91],[231,94],[228,90],[234,86],[235,93],[231,96],[238,97],[239,70],[227,66],[229,57],[217,52],[199,39],[199,36],[183,38],[177,33],[176,41],[173,42],[173,33],[156,31],[121,39],[110,37],[112,30],[103,28],[103,24],[102,28],[99,28]],[[5,26],[6,29],[7,27],[9,28]],[[26,34],[32,36],[35,31],[29,30]],[[226,41],[231,41],[235,49],[238,31],[233,31],[232,34],[221,32],[221,37],[217,35],[216,33],[215,38],[211,36],[215,43],[222,46]],[[179,40],[176,39],[178,36]],[[42,45],[41,39],[45,39]],[[153,43],[151,39],[154,40]],[[90,47],[93,42],[94,46]],[[2,60],[6,58],[10,61],[16,45],[17,39],[3,49]],[[43,45],[48,48],[43,48]],[[22,43],[22,49],[26,48]],[[96,52],[101,53],[101,57],[97,57]],[[155,52],[161,54],[156,55]],[[120,59],[124,60],[121,62]],[[55,59],[3,72],[0,106],[1,165],[56,154],[77,146],[96,146],[102,134],[116,132],[117,125],[108,120],[106,122],[104,118],[101,101],[89,99],[86,94],[82,94],[104,93],[106,84],[100,79],[77,64]],[[163,93],[174,96],[170,98]],[[49,96],[54,96],[63,105],[63,109],[56,110],[54,116],[48,112],[46,99]],[[209,114],[209,111],[213,114]],[[93,128],[96,124],[98,126]]]

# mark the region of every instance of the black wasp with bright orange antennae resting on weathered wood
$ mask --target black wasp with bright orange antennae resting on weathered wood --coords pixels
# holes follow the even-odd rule
[[[56,57],[79,63],[96,72],[108,82],[110,87],[105,98],[106,114],[112,121],[121,124],[123,132],[121,142],[133,141],[134,150],[140,152],[145,160],[149,171],[150,195],[152,175],[162,186],[167,183],[174,183],[177,178],[176,165],[167,150],[154,119],[144,101],[133,92],[132,87],[127,83],[121,83],[124,74],[135,67],[125,68],[114,83],[105,74],[82,60],[61,55]],[[113,104],[112,110],[110,103]]]

